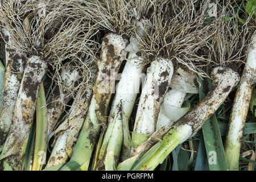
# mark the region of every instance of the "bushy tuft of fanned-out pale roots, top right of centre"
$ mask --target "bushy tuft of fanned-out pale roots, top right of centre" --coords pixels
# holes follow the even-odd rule
[[[207,77],[199,68],[209,64],[205,47],[213,35],[213,24],[205,23],[207,6],[201,5],[198,0],[155,3],[149,18],[153,26],[146,36],[136,31],[139,48],[146,59],[151,61],[157,56],[168,57],[174,67]]]

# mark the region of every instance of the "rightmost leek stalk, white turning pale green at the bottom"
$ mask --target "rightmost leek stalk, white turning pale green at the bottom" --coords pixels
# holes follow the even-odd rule
[[[234,98],[232,113],[229,119],[229,130],[225,140],[224,148],[229,170],[239,169],[241,139],[249,110],[251,94],[256,82],[256,35],[252,37],[251,41],[240,86]]]

